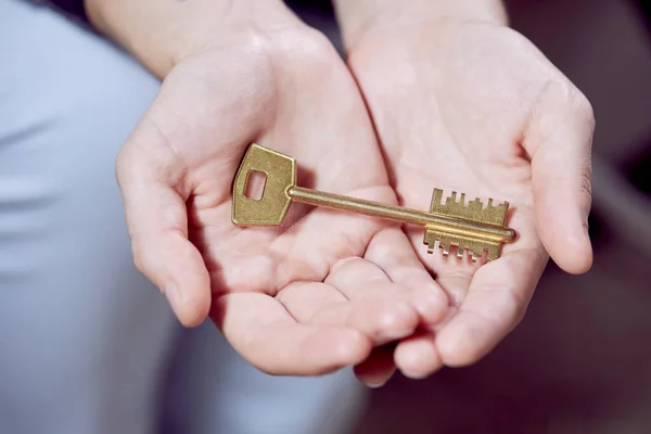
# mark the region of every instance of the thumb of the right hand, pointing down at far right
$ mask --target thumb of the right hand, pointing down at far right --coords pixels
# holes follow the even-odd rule
[[[587,220],[593,129],[592,110],[578,90],[549,86],[523,142],[532,158],[540,239],[554,261],[573,273],[585,272],[592,264]]]

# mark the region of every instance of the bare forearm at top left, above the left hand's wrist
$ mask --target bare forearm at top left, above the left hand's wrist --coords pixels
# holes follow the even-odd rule
[[[93,27],[161,78],[188,55],[237,43],[247,33],[292,20],[280,0],[86,0],[85,4]]]

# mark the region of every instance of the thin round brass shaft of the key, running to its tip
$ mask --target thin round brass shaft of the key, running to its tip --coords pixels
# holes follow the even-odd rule
[[[307,205],[348,210],[370,217],[424,226],[429,229],[445,231],[449,234],[472,238],[480,241],[508,243],[515,239],[514,230],[482,221],[437,215],[342,194],[326,193],[297,186],[290,187],[286,193],[293,201]]]

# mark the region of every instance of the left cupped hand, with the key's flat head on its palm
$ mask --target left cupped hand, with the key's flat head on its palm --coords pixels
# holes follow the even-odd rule
[[[231,183],[252,142],[294,156],[301,186],[396,201],[321,35],[292,24],[188,55],[117,162],[138,268],[184,324],[209,311],[260,370],[321,374],[376,363],[372,347],[443,318],[445,295],[395,226],[293,204],[280,228],[235,227]]]

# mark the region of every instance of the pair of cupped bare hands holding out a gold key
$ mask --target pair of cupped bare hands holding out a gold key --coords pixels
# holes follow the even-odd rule
[[[268,373],[354,366],[378,386],[490,352],[549,256],[589,269],[592,112],[527,39],[387,13],[344,33],[344,61],[281,14],[186,53],[118,156],[136,264],[183,324],[209,316]],[[279,228],[237,227],[253,142],[295,157],[302,187],[419,209],[434,188],[509,201],[519,238],[473,264],[427,255],[423,228],[298,204]]]

